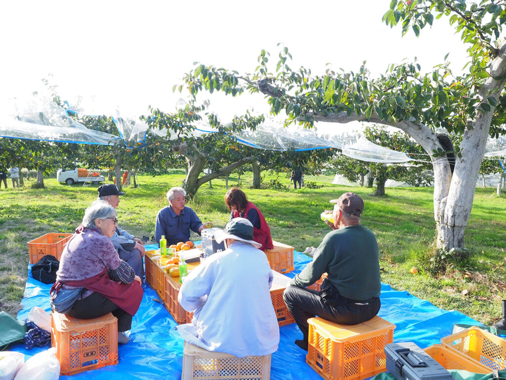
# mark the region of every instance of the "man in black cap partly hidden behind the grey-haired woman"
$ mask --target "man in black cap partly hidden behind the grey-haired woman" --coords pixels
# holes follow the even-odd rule
[[[125,193],[118,191],[116,185],[109,183],[98,188],[98,196],[115,209],[119,205],[119,196]],[[126,261],[141,279],[144,278],[142,258],[146,252],[141,239],[136,238],[125,230],[116,226],[116,232],[111,238],[112,244],[118,252],[119,258]]]

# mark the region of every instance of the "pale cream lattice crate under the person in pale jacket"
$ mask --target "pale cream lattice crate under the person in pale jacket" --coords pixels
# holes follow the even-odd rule
[[[268,380],[271,355],[237,358],[220,352],[209,352],[185,341],[182,380]]]

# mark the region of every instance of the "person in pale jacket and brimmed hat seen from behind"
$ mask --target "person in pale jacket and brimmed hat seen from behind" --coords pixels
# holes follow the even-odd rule
[[[238,358],[272,354],[279,344],[269,290],[273,274],[260,244],[252,240],[253,225],[233,218],[217,235],[227,249],[205,259],[181,285],[178,301],[193,312],[193,320],[178,331],[208,351]]]

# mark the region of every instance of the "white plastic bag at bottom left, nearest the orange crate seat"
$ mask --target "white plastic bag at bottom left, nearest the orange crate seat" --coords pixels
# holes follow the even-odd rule
[[[33,355],[18,371],[14,380],[57,380],[60,362],[55,356],[56,348]]]

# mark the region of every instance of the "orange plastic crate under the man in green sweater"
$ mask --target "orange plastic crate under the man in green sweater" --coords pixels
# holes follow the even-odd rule
[[[310,318],[306,362],[327,380],[359,380],[386,371],[395,325],[375,316],[358,325]]]

